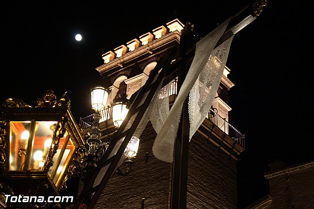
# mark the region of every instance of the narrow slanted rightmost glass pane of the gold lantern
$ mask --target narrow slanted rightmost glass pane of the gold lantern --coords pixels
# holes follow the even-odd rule
[[[67,168],[67,165],[71,160],[74,150],[75,150],[75,146],[70,137],[70,139],[68,140],[68,143],[65,146],[64,154],[62,155],[56,174],[54,175],[54,178],[53,178],[53,182],[54,184],[56,184],[56,186],[60,185],[63,174],[65,173],[65,169]]]

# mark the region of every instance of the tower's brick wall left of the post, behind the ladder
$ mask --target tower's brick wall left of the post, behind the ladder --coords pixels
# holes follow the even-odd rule
[[[156,133],[151,125],[144,130],[138,154],[129,176],[112,175],[96,209],[167,209],[171,163],[158,160],[152,153]]]

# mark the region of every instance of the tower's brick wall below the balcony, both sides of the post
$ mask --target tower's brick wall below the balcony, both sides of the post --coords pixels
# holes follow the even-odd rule
[[[96,209],[168,209],[172,164],[154,157],[156,133],[151,124],[144,130],[129,176],[114,174]],[[196,134],[190,142],[187,209],[235,209],[235,160]]]

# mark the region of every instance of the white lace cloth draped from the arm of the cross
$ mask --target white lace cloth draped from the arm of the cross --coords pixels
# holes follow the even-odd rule
[[[229,47],[227,47],[228,50],[223,50],[223,53],[221,53],[222,50],[219,49],[220,47],[216,48],[214,51],[213,49],[226,30],[229,22],[230,18],[196,44],[195,56],[191,67],[187,72],[186,78],[169,114],[163,114],[166,113],[167,110],[158,109],[167,108],[161,104],[157,104],[153,109],[153,115],[157,117],[151,118],[151,120],[157,121],[157,123],[153,125],[157,132],[157,137],[153,145],[153,154],[156,158],[166,162],[173,161],[174,143],[178,133],[183,102],[189,94],[189,114],[190,123],[192,123],[190,125],[190,139],[205,119],[205,112],[207,109],[209,110],[213,100],[211,97],[214,96],[217,91],[229,52]],[[230,46],[231,41],[228,43]],[[220,53],[223,56],[218,55]],[[216,61],[219,61],[217,58],[220,59],[220,57],[224,59],[223,62],[221,62],[220,65],[215,64]],[[219,68],[217,69],[215,66],[219,66]]]

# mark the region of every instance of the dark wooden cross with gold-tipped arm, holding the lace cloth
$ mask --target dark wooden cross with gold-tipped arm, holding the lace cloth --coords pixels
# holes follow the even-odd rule
[[[227,27],[226,32],[222,35],[214,48],[224,43],[232,35],[254,21],[262,12],[263,6],[266,6],[266,0],[256,0],[232,16],[229,23],[231,26]],[[186,23],[180,38],[179,49],[181,64],[179,65],[178,90],[180,90],[182,86],[195,54],[196,40],[193,27],[194,25],[191,23]],[[178,135],[174,146],[170,209],[186,209],[189,131],[190,122],[187,97],[183,103]]]

